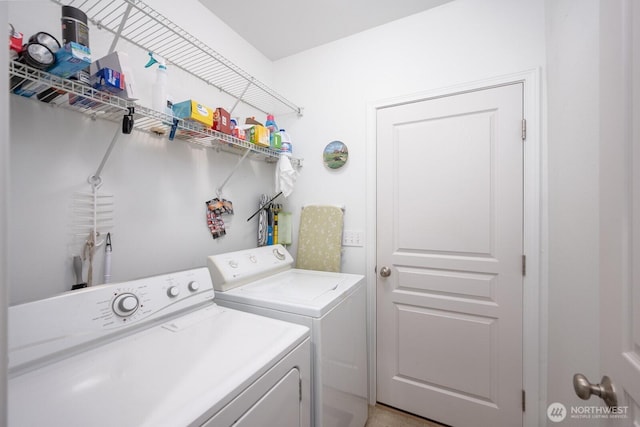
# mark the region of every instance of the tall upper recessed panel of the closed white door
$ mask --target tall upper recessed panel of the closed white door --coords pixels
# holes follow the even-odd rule
[[[494,113],[396,125],[394,140],[401,144],[394,147],[396,247],[423,253],[491,253],[491,139],[486,128]],[[447,144],[428,135],[446,135]],[[415,184],[406,185],[409,182]],[[416,197],[416,185],[428,200]]]

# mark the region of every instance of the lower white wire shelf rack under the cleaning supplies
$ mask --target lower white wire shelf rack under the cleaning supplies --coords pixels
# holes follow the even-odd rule
[[[60,96],[52,106],[74,110],[92,119],[103,119],[113,122],[122,122],[125,114],[133,108],[134,129],[167,137],[171,131],[171,125],[177,120],[177,132],[175,139],[185,140],[200,146],[213,148],[220,151],[232,152],[235,154],[245,154],[248,152],[251,158],[265,159],[275,162],[280,156],[278,150],[267,147],[260,147],[250,142],[234,138],[213,129],[205,129],[200,125],[181,119],[174,119],[172,116],[137,105],[117,96],[101,92],[89,86],[80,84],[73,80],[61,79],[47,72],[36,70],[25,64],[10,61],[9,74],[16,77],[16,81],[29,81],[36,83],[37,91],[44,91],[48,88],[58,89],[67,95]],[[19,78],[19,79],[18,79]],[[14,87],[10,90],[13,91]],[[33,95],[30,99],[37,100]],[[43,103],[44,105],[44,103]],[[301,160],[292,158],[296,166],[301,166]]]

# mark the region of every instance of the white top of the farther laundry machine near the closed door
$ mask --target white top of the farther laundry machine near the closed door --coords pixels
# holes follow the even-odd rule
[[[215,298],[321,317],[353,292],[363,279],[359,274],[290,269],[218,292]]]

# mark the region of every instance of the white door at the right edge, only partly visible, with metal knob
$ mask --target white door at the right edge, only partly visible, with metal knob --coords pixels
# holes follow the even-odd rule
[[[600,355],[618,401],[602,417],[630,427],[640,425],[640,3],[608,0],[600,10]]]

